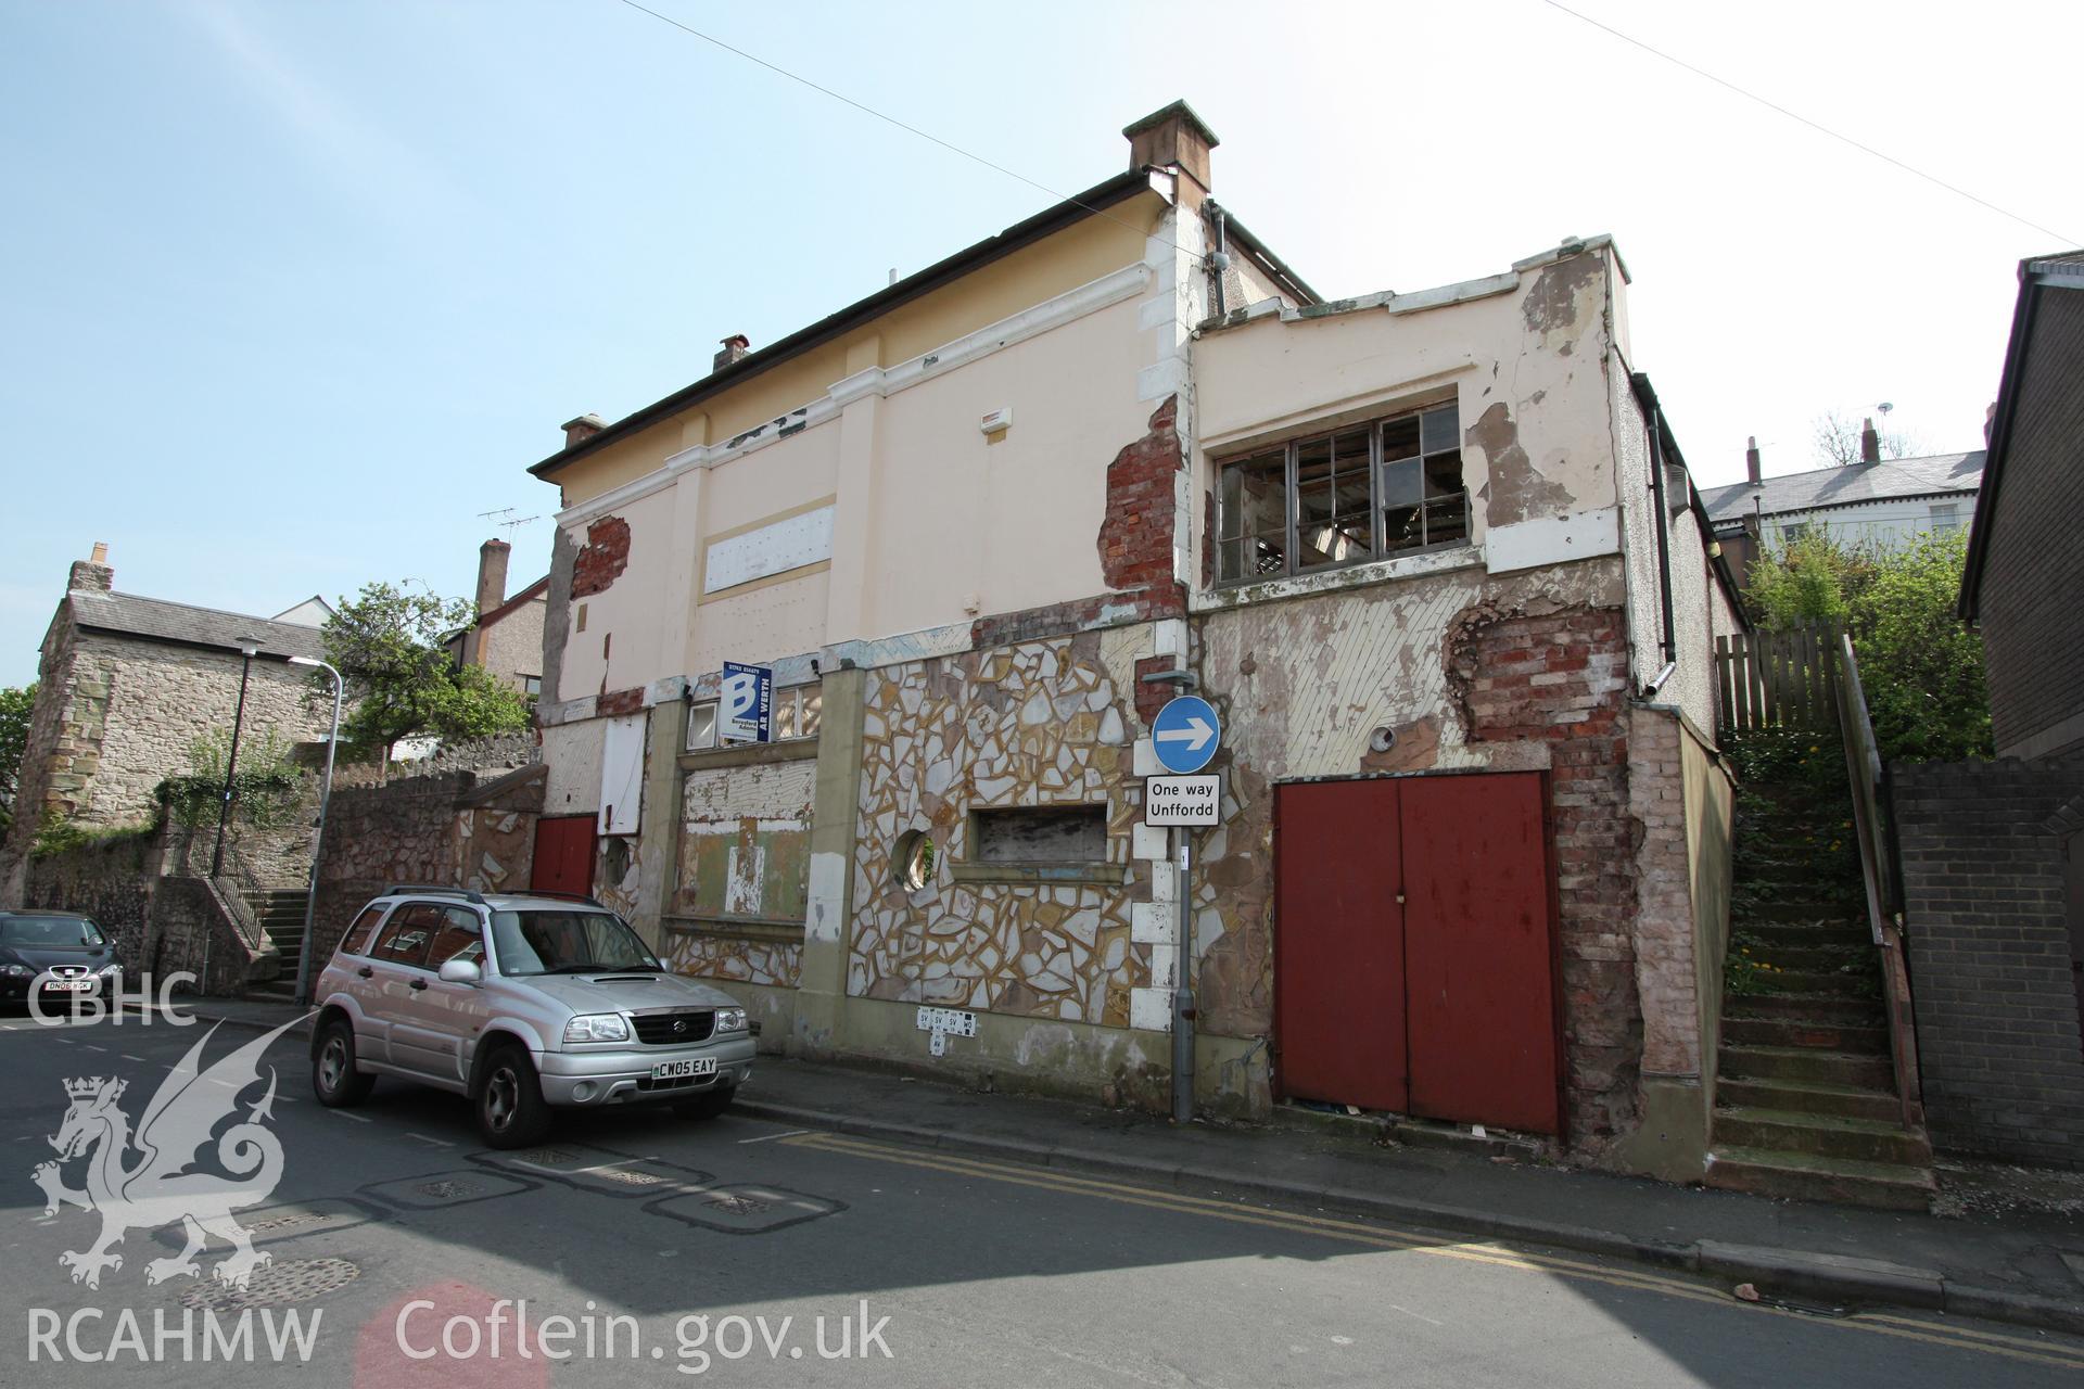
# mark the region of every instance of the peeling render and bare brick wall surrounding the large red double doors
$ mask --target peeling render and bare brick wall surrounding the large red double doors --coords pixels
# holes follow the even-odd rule
[[[1609,558],[1513,577],[1471,566],[1202,621],[1202,693],[1223,714],[1217,766],[1230,773],[1194,889],[1205,1031],[1271,1035],[1275,783],[1548,771],[1571,1133],[1596,1150],[1630,1129],[1640,827],[1628,814],[1621,602]],[[1378,727],[1396,733],[1388,754],[1369,750]]]

